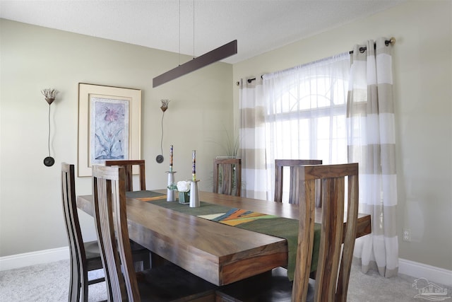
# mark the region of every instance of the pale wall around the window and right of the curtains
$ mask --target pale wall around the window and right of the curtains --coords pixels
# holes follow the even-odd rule
[[[312,62],[377,37],[393,47],[399,256],[452,269],[452,5],[408,1],[234,64],[234,81]],[[234,112],[238,112],[234,87]],[[411,242],[403,241],[403,228]]]

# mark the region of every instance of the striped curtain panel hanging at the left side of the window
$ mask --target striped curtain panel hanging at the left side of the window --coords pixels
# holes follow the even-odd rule
[[[262,79],[239,83],[242,157],[242,196],[268,199],[266,190],[266,142]]]

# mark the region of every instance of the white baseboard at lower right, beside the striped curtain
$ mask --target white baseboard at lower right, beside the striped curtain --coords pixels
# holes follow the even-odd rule
[[[432,267],[431,265],[399,258],[398,272],[415,278],[425,278],[433,283],[452,286],[452,271],[441,269],[441,267]]]

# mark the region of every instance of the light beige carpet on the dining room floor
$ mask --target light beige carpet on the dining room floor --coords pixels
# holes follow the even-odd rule
[[[90,273],[90,277],[102,274],[102,270],[96,271]],[[419,294],[412,286],[415,279],[417,278],[401,274],[393,278],[380,277],[376,272],[362,274],[359,267],[354,265],[350,275],[347,301],[429,301],[415,297]],[[69,260],[0,272],[1,302],[67,301],[68,287]],[[452,302],[451,296],[452,288],[447,288],[445,301]],[[104,282],[90,286],[89,301],[102,301],[106,298]]]

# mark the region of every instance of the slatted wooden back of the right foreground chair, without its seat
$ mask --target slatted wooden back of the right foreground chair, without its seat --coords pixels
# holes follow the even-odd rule
[[[306,301],[314,245],[316,180],[321,180],[323,217],[314,301],[345,302],[357,228],[358,164],[305,165],[296,168],[295,176],[299,188],[302,188],[299,198],[305,200],[299,202],[297,266],[292,301]],[[345,205],[347,223],[344,228]]]

